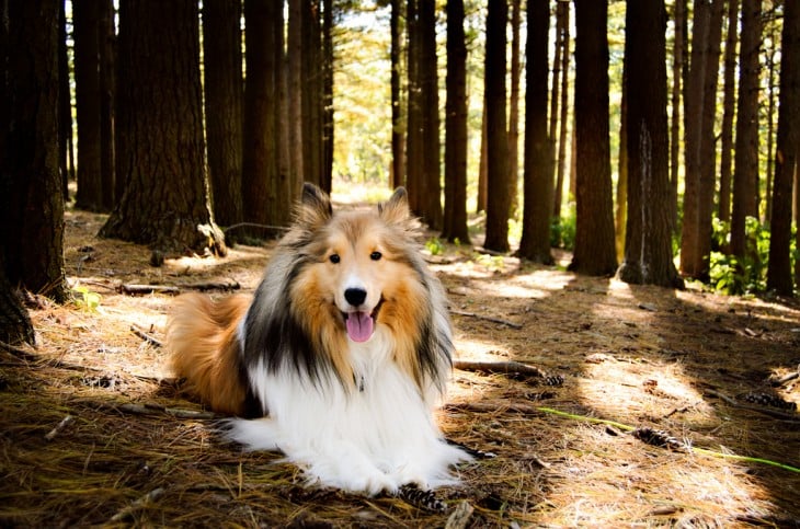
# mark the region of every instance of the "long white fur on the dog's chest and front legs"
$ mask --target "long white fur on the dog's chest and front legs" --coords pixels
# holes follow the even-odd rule
[[[420,394],[391,360],[385,329],[350,347],[357,386],[351,391],[333,373],[312,383],[290,367],[276,375],[263,365],[251,370],[270,415],[231,419],[228,437],[250,450],[278,449],[309,482],[345,491],[374,495],[408,483],[454,483],[449,467],[469,458],[442,438],[433,421],[433,384]]]

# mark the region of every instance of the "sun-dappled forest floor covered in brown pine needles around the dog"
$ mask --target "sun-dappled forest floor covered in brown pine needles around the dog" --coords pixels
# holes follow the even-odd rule
[[[274,243],[152,267],[146,248],[96,238],[104,219],[67,212],[77,302],[31,297],[38,347],[0,350],[1,527],[800,526],[793,301],[444,245],[430,262],[459,359],[547,376],[454,370],[443,429],[495,457],[459,468],[439,513],[304,487],[279,455],[224,444],[171,378],[157,342],[174,292],[128,287],[250,292]]]

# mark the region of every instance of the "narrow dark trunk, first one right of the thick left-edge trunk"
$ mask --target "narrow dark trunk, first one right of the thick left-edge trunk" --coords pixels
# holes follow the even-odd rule
[[[100,130],[100,1],[72,5],[75,100],[78,120],[76,207],[103,211]]]

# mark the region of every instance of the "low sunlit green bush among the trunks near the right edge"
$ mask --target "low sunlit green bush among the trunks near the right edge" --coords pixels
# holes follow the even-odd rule
[[[744,257],[711,252],[709,276],[711,286],[725,294],[753,294],[766,289],[767,264],[769,262],[769,228],[758,219],[747,217],[745,221],[747,250]],[[728,222],[713,220],[713,243],[716,248],[727,246],[731,228]]]

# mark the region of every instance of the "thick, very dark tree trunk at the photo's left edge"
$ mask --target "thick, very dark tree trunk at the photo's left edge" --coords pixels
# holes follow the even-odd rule
[[[58,3],[10,1],[0,71],[0,264],[8,283],[58,302],[64,274],[64,193],[58,172]],[[1,291],[7,288],[0,287]],[[8,301],[8,300],[7,300]],[[3,302],[5,317],[15,304]],[[13,334],[27,336],[23,317]],[[12,318],[12,320],[14,319]]]

